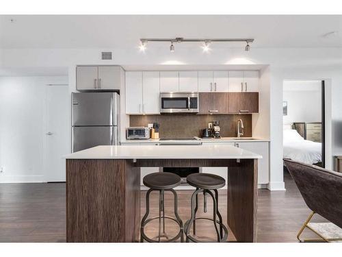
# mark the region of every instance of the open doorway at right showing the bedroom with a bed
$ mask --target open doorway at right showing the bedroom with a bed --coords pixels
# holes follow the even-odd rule
[[[283,83],[283,157],[326,167],[324,80]]]

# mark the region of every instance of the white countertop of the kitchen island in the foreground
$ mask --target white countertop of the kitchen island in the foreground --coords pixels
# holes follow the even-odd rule
[[[231,145],[100,145],[64,156],[66,159],[261,159]]]

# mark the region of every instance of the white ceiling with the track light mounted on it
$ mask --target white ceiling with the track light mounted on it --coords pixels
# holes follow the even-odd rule
[[[322,37],[334,31],[339,33]],[[342,47],[342,16],[0,16],[0,48],[5,49],[115,49],[137,47],[140,38],[175,37],[255,38],[252,47],[260,48]],[[220,47],[240,47],[241,42],[218,44]],[[187,43],[182,43],[182,47],[187,47],[185,45]]]

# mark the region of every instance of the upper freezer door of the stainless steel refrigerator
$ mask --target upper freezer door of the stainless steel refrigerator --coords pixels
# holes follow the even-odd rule
[[[73,126],[118,125],[118,93],[73,93]]]

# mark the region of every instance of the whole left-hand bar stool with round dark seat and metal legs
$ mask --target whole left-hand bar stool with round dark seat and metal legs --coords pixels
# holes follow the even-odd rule
[[[181,177],[179,177],[179,175],[176,175],[174,173],[167,173],[167,172],[150,173],[143,178],[143,183],[145,186],[147,186],[150,189],[148,189],[146,193],[146,213],[144,217],[142,218],[142,223],[140,226],[140,242],[142,243],[144,242],[144,240],[146,240],[150,243],[153,243],[153,242],[168,243],[168,242],[174,242],[178,238],[181,238],[181,242],[183,242],[184,241],[183,222],[178,215],[178,197],[177,197],[176,191],[174,191],[173,189],[176,186],[179,186],[179,184],[181,184]],[[150,193],[152,191],[159,191],[159,216],[147,219],[148,214],[150,213]],[[165,208],[164,208],[164,192],[165,191],[170,191],[174,195],[175,218],[165,216]],[[146,236],[146,234],[144,233],[145,225],[155,219],[159,219],[159,230],[158,230],[159,232],[158,232],[158,236],[155,237],[157,238],[157,240],[155,238],[148,238],[148,236]],[[179,233],[171,239],[169,239],[165,233],[165,219],[171,219],[172,221],[175,221],[179,225]],[[161,221],[163,221],[163,234],[161,234]],[[167,240],[161,241],[161,237],[165,237]]]

